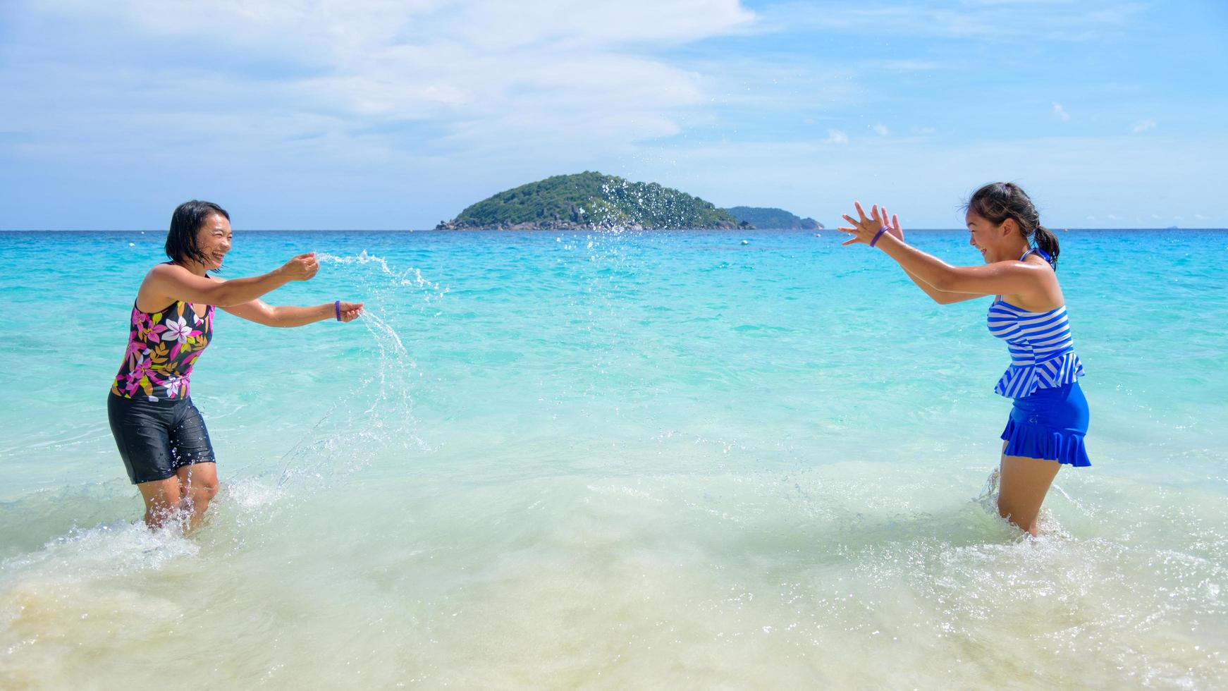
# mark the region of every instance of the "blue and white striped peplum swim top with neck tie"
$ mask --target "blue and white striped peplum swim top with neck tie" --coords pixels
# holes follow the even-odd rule
[[[1033,252],[1039,250],[1029,249],[1019,261]],[[1065,304],[1049,312],[1028,312],[1000,297],[990,306],[989,326],[1011,351],[1011,367],[998,379],[993,393],[1017,399],[1036,389],[1070,384],[1083,376]]]

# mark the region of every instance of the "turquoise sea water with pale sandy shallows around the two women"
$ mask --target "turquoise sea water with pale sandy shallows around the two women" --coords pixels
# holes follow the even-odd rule
[[[0,233],[4,685],[1228,686],[1228,231],[1061,233],[1093,468],[1038,540],[976,501],[987,303],[834,231],[238,231],[367,315],[219,313],[223,490],[150,533],[104,396],[163,237]]]

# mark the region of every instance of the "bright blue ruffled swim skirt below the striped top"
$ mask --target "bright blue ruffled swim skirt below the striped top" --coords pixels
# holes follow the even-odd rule
[[[1002,431],[1006,455],[1056,460],[1076,468],[1092,465],[1083,447],[1087,434],[1087,399],[1078,382],[1036,389],[1014,399],[1011,419]]]

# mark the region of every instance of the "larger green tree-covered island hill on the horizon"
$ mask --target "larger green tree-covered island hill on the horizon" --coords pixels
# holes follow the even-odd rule
[[[744,228],[709,201],[657,183],[583,172],[554,176],[468,206],[437,230]]]

